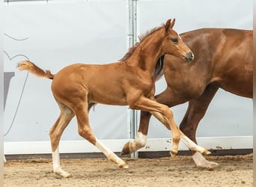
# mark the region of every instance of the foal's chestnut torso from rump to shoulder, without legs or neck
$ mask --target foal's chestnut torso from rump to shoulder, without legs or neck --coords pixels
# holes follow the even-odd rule
[[[125,61],[111,64],[72,64],[55,74],[52,93],[58,101],[64,103],[67,102],[64,99],[86,96],[88,102],[127,105],[126,93],[132,91],[136,84],[143,88],[147,82],[144,80],[141,85],[139,74],[137,68],[129,66]]]

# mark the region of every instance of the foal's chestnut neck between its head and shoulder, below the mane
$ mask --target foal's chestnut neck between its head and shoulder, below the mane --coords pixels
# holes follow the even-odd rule
[[[129,64],[141,67],[153,73],[157,60],[163,55],[161,53],[162,38],[152,34],[139,44],[135,52],[129,58]]]

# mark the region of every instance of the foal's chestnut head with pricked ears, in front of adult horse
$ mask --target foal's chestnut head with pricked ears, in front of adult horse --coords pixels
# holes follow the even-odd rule
[[[162,52],[164,54],[174,55],[177,58],[183,58],[190,62],[194,59],[194,55],[189,47],[183,43],[179,34],[172,29],[174,27],[174,23],[175,19],[172,21],[171,19],[168,19],[165,23],[165,39],[162,44]]]

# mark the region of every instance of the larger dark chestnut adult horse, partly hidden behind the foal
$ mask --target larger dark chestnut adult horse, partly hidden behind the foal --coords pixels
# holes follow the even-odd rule
[[[192,49],[195,59],[183,64],[180,59],[165,55],[167,88],[156,96],[156,101],[168,107],[189,102],[180,129],[196,143],[198,123],[219,88],[252,98],[252,31],[204,28],[180,34],[180,37]],[[149,120],[150,113],[141,111],[138,135],[135,141],[124,145],[122,154],[144,147]],[[218,165],[194,151],[192,158],[198,168],[213,169]]]

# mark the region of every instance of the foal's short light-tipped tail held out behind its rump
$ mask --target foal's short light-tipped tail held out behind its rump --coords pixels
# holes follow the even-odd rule
[[[42,70],[40,67],[37,67],[34,63],[31,61],[22,61],[17,65],[17,68],[19,70],[27,70],[29,73],[34,74],[35,76],[53,79],[54,75],[49,70]]]

